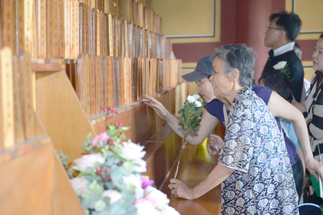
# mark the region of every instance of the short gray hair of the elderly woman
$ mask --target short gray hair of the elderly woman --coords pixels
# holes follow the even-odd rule
[[[222,70],[229,77],[230,72],[239,70],[239,82],[242,87],[252,85],[255,72],[256,52],[246,44],[228,44],[213,50],[216,57],[223,60]]]

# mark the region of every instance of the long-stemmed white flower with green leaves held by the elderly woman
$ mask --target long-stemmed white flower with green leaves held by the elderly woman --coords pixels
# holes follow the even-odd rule
[[[181,148],[179,152],[179,159],[177,162],[177,167],[175,171],[175,179],[177,177],[178,173],[178,167],[179,167],[179,162],[181,158],[181,151],[183,151],[184,147],[184,140],[185,140],[185,135],[186,132],[191,130],[191,131],[196,131],[197,127],[199,126],[199,123],[201,122],[200,117],[203,114],[203,103],[198,101],[200,98],[199,95],[195,94],[193,96],[188,95],[187,96],[187,101],[184,102],[183,108],[178,111],[180,116],[180,120],[178,122],[178,125],[183,128],[184,135],[183,135],[183,141],[181,143]]]

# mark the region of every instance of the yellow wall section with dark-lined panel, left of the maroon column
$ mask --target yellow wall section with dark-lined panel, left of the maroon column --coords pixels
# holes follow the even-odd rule
[[[215,35],[196,38],[173,38],[173,43],[219,42],[221,31],[221,1],[214,0],[152,0],[152,8],[163,17],[165,35],[210,35],[215,25]],[[210,18],[211,17],[211,18]]]

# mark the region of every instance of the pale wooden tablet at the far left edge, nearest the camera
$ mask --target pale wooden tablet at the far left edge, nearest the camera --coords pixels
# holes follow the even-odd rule
[[[12,51],[0,50],[0,149],[14,144]]]

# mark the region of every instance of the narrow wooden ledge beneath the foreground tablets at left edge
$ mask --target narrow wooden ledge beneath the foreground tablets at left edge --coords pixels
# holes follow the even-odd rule
[[[24,142],[14,144],[12,147],[2,149],[0,151],[0,165],[11,161],[18,156],[29,153],[39,146],[50,143],[51,139],[49,136],[35,136]]]

